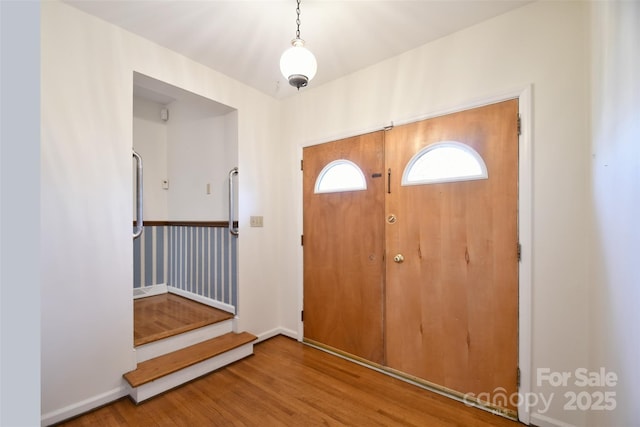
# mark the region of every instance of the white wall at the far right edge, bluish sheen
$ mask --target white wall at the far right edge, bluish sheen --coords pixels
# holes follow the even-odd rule
[[[618,377],[591,426],[640,426],[640,3],[592,4],[590,367]]]

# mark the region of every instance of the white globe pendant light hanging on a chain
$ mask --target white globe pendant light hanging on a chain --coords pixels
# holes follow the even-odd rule
[[[296,24],[298,29],[296,30],[296,38],[291,41],[291,47],[285,50],[280,57],[280,71],[291,86],[300,90],[301,87],[307,86],[316,75],[318,63],[313,53],[304,47],[304,40],[300,38],[300,0],[297,2],[298,19]]]

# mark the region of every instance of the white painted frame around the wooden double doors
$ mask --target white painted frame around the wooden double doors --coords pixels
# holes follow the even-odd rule
[[[518,420],[529,424],[531,419],[530,408],[526,405],[525,396],[531,393],[532,385],[532,283],[533,283],[533,89],[532,85],[526,85],[516,89],[487,96],[481,99],[470,100],[464,104],[433,111],[431,113],[391,121],[388,126],[403,125],[433,117],[443,116],[488,104],[494,104],[510,99],[518,99],[518,113],[520,115],[520,135],[518,152],[518,238],[521,245],[521,258],[518,268],[518,367],[520,368],[520,385],[518,387]],[[374,132],[387,126],[378,126],[363,129],[355,133],[333,135],[329,139],[318,141],[303,141],[298,146],[298,156],[302,159],[304,147],[323,144],[342,138],[352,137],[363,133]],[[302,197],[302,171],[299,174],[298,188],[300,200]],[[299,233],[302,234],[302,204],[298,211]],[[298,252],[298,312],[303,309],[303,247]],[[302,342],[304,337],[304,323],[298,320],[297,340]],[[385,372],[385,371],[381,371]],[[418,384],[419,385],[419,384]],[[455,399],[455,397],[450,396]],[[462,399],[459,399],[462,401]],[[470,404],[470,402],[465,402]],[[475,405],[474,405],[475,406]]]

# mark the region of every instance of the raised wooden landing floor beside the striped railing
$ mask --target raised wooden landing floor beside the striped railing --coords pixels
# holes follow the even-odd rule
[[[222,320],[233,314],[171,293],[133,301],[133,340],[139,346]]]

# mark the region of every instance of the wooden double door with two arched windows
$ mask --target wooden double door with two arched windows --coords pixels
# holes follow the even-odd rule
[[[509,100],[304,149],[305,340],[515,414],[517,117]],[[441,146],[484,175],[420,172]],[[364,185],[319,189],[336,162]]]

